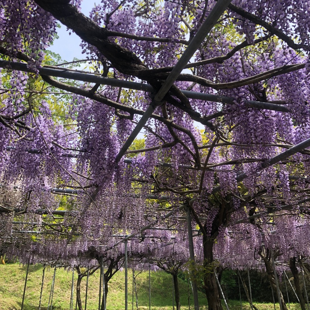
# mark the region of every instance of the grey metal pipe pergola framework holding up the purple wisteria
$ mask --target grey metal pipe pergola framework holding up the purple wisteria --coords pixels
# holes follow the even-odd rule
[[[149,107],[146,109],[142,117],[140,118],[138,124],[135,126],[135,129],[132,131],[131,135],[128,137],[124,145],[122,146],[121,150],[117,154],[115,158],[115,163],[118,163],[122,160],[123,156],[125,155],[127,149],[130,147],[134,139],[137,137],[138,133],[140,130],[144,127],[146,122],[148,121],[149,117],[151,117],[152,113],[154,112],[155,108],[161,104],[163,98],[165,95],[169,92],[170,87],[174,84],[175,80],[179,76],[179,74],[182,72],[182,70],[185,68],[185,66],[188,64],[188,61],[191,59],[197,48],[200,46],[201,42],[204,40],[206,37],[207,33],[212,29],[213,25],[216,23],[216,21],[219,19],[219,17],[222,15],[222,13],[226,10],[228,5],[230,4],[231,0],[219,0],[215,7],[212,9],[210,14],[207,16],[205,22],[201,25],[200,29],[196,33],[196,35],[193,37],[192,41],[184,51],[183,55],[175,65],[174,69],[171,71],[169,74],[168,78],[166,81],[162,84],[161,88],[159,91],[154,95],[153,101],[149,105]],[[13,70],[21,70],[25,72],[31,72],[29,69],[27,69],[26,64],[21,64],[21,63],[12,63],[8,61],[2,61],[0,60],[0,67],[9,67],[10,69]],[[302,65],[301,65],[302,67]],[[277,70],[285,72],[285,70],[290,70],[291,67],[289,66],[283,66],[280,69]],[[296,68],[294,68],[295,70]],[[68,78],[68,79],[74,79],[74,80],[79,80],[79,81],[84,81],[84,82],[91,82],[91,83],[100,83],[104,85],[109,85],[109,86],[117,86],[117,87],[124,87],[124,88],[130,88],[130,89],[135,89],[135,90],[140,90],[140,91],[146,91],[146,92],[154,92],[154,89],[152,86],[148,84],[141,84],[137,82],[128,82],[128,81],[120,81],[120,80],[115,80],[115,79],[110,79],[110,78],[103,78],[103,77],[98,77],[94,76],[91,74],[87,73],[78,73],[78,72],[72,72],[68,71],[66,69],[55,69],[55,68],[40,68],[39,74],[41,75],[49,75],[49,76],[54,76],[54,77],[61,77],[61,78]],[[287,71],[286,71],[287,72]],[[272,74],[272,73],[271,73]],[[198,100],[206,100],[206,101],[214,101],[214,102],[219,102],[223,104],[233,104],[234,99],[230,97],[225,97],[225,96],[217,96],[217,95],[208,95],[208,94],[203,94],[203,93],[197,93],[193,91],[185,91],[183,90],[182,93],[188,97],[188,98],[193,98],[193,99],[198,99]],[[259,109],[269,109],[273,111],[280,111],[280,112],[289,112],[289,108],[286,107],[285,105],[282,104],[272,104],[268,102],[259,102],[259,101],[253,101],[253,100],[247,100],[246,104],[249,107],[253,108],[259,108]],[[200,117],[200,116],[199,116]],[[205,123],[208,122],[208,119],[206,118],[204,120]],[[262,168],[267,168],[269,166],[272,166],[278,162],[281,162],[282,160],[300,152],[303,151],[305,148],[308,148],[310,146],[310,139],[307,139],[298,145],[289,148],[288,150],[280,153],[279,155],[272,157],[270,160],[263,162]],[[35,150],[32,150],[32,153],[35,153]],[[68,157],[75,157],[76,155],[74,154],[66,154],[65,156]],[[125,162],[130,164],[130,159],[126,159]],[[169,163],[164,163],[163,166],[165,165],[170,165]],[[188,169],[197,169],[197,167],[185,167]],[[243,179],[249,177],[245,172],[240,173],[237,176],[237,182],[241,182]],[[292,176],[294,177],[294,176]],[[220,190],[219,187],[215,187],[212,190],[212,193],[216,193]],[[95,194],[92,195],[92,200],[94,201],[97,194],[100,191],[100,185],[97,187]],[[53,188],[51,189],[51,192],[54,193],[80,193],[79,190],[76,189],[61,189],[61,188]],[[167,196],[162,196],[162,197],[157,197],[155,195],[146,195],[146,199],[162,199],[162,200],[167,200],[169,197]],[[188,239],[189,239],[189,252],[190,252],[190,259],[194,261],[194,250],[193,250],[193,233],[192,233],[192,219],[191,219],[191,209],[190,205],[193,203],[195,199],[190,200],[187,203],[182,204],[177,208],[178,211],[181,210],[186,210],[187,211],[187,224],[188,224]],[[303,203],[305,201],[302,201]],[[92,203],[92,202],[90,202]],[[289,208],[290,206],[285,206],[286,208]],[[0,208],[0,212],[7,212],[8,210],[4,208]],[[21,210],[19,209],[14,209],[15,212],[20,212]],[[36,213],[39,214],[46,214],[47,211],[44,209],[39,209],[35,211]],[[51,213],[55,215],[65,215],[69,214],[71,211],[64,211],[64,210],[54,210]],[[166,215],[163,215],[161,219],[167,219],[171,215],[175,214],[175,210],[168,212]],[[256,217],[260,216],[261,214],[255,215]],[[255,217],[253,215],[253,218]],[[147,229],[156,229],[154,225],[158,222],[158,219],[151,224],[148,224],[142,228],[139,229],[139,233],[144,232]],[[34,231],[20,231],[20,233],[37,233]],[[137,233],[133,233],[128,236],[120,236],[123,239],[120,242],[125,242],[125,275],[126,275],[126,280],[125,280],[125,310],[128,309],[128,304],[127,304],[127,290],[128,290],[128,284],[127,284],[127,241],[130,240],[131,238],[134,238],[137,235]],[[115,246],[118,243],[115,244]],[[274,265],[274,262],[273,262]],[[100,263],[100,268],[102,268],[102,263]],[[275,269],[274,269],[275,270]],[[277,278],[276,274],[275,277]],[[101,280],[101,277],[100,277]],[[197,286],[196,283],[193,282],[193,293],[194,293],[194,304],[195,304],[195,310],[199,309],[198,305],[198,295],[197,295]],[[281,304],[281,303],[280,303]],[[105,308],[105,304],[104,304]]]

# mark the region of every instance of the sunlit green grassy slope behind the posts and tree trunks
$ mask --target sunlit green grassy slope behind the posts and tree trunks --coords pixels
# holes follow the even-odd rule
[[[45,280],[42,296],[42,310],[47,309],[51,282],[54,270],[46,268]],[[1,310],[18,310],[21,306],[23,297],[24,280],[26,276],[26,266],[19,264],[0,265],[0,309]],[[132,308],[132,277],[128,272],[128,308]],[[72,272],[66,272],[64,269],[56,270],[53,309],[68,310],[70,303]],[[76,274],[74,277],[77,279]],[[39,296],[42,281],[42,266],[29,266],[27,289],[24,301],[24,310],[38,309]],[[136,279],[138,302],[140,309],[148,309],[148,272],[139,274]],[[76,282],[75,282],[76,283]],[[153,310],[170,310],[172,309],[172,278],[165,272],[151,272],[151,308]],[[185,281],[179,280],[181,308],[188,309],[188,288]],[[81,298],[85,302],[86,277],[81,283]],[[99,288],[99,271],[89,278],[87,309],[98,309],[98,288]],[[75,297],[75,294],[74,294]],[[135,300],[134,300],[135,303]],[[206,298],[203,294],[199,296],[201,308],[206,308]],[[240,302],[230,301],[230,310],[239,310]],[[272,310],[273,304],[256,304],[259,310]],[[75,306],[75,303],[74,303]],[[183,306],[183,307],[182,307]],[[74,308],[74,307],[73,307]],[[124,301],[124,272],[117,272],[109,281],[109,293],[107,298],[107,309],[118,310],[125,308]],[[135,308],[134,308],[135,309]],[[193,309],[193,299],[191,295],[191,309]],[[243,309],[250,310],[248,303],[243,303]],[[291,310],[299,310],[297,305],[291,304]]]

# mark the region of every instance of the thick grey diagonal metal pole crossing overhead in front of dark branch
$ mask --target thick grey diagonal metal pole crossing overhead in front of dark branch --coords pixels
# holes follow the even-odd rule
[[[207,34],[219,20],[220,16],[224,13],[230,2],[232,2],[232,0],[219,0],[218,2],[216,2],[213,9],[206,17],[206,20],[203,22],[197,33],[194,35],[192,41],[188,44],[188,47],[185,49],[183,55],[180,57],[180,59],[175,64],[172,71],[169,73],[166,81],[162,84],[161,88],[155,95],[154,100],[152,100],[152,103],[148,106],[143,116],[139,120],[138,124],[135,126],[135,129],[132,131],[131,135],[128,137],[125,144],[122,146],[121,150],[119,151],[119,153],[115,158],[115,163],[118,163],[125,155],[127,149],[131,146],[132,142],[135,140],[140,130],[148,121],[149,117],[152,115],[155,108],[159,104],[161,104],[162,100],[170,90],[171,86],[174,84],[175,80],[178,78],[182,70],[188,64],[188,61],[193,57],[198,47],[201,45],[203,40],[206,38]]]

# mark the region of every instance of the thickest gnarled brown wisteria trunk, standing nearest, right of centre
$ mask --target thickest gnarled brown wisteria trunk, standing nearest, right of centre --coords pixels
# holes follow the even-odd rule
[[[204,267],[208,267],[210,266],[210,264],[214,262],[213,244],[214,244],[213,239],[203,236]],[[223,310],[219,287],[217,286],[214,272],[205,273],[204,288],[206,291],[209,310]]]

